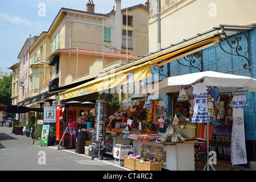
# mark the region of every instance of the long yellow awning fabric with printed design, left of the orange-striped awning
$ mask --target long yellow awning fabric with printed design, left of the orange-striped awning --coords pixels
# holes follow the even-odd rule
[[[96,80],[66,90],[65,92],[60,93],[59,98],[60,100],[67,100],[73,97],[85,96],[86,94],[100,92],[102,90],[114,88],[115,86],[144,80],[146,78],[152,78],[151,67],[148,62],[127,68],[117,73],[112,73],[111,75],[97,78]]]

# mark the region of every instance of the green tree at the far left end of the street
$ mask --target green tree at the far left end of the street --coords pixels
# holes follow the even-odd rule
[[[8,76],[0,78],[0,103],[4,105],[11,105],[11,82],[13,80],[13,73]]]

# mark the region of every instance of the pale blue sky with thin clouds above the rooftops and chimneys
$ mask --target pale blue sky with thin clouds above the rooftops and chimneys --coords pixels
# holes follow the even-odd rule
[[[27,38],[48,31],[61,7],[86,11],[89,0],[0,0],[0,72],[18,63]],[[146,0],[121,0],[121,8],[143,4]],[[110,13],[114,0],[93,0],[95,13]],[[42,11],[45,10],[45,11]]]

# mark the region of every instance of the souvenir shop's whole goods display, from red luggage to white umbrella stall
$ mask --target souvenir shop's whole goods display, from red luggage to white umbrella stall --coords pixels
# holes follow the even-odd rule
[[[146,89],[141,93],[147,94],[111,114],[106,100],[96,100],[88,110],[59,107],[57,122],[68,122],[59,139],[65,148],[75,146],[92,159],[113,155],[117,165],[134,170],[155,165],[154,170],[193,171],[198,147],[207,154],[216,151],[219,159],[234,165],[246,164],[243,107],[245,92],[256,92],[254,78],[207,71],[168,77],[158,88],[159,97],[171,96],[171,106],[162,98],[152,99],[154,93],[147,90],[154,89]],[[66,133],[77,133],[76,144],[66,142],[71,140]]]

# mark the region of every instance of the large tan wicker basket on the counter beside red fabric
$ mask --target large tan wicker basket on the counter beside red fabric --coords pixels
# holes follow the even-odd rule
[[[181,127],[184,126],[181,123]],[[176,132],[179,133],[182,137],[192,139],[196,137],[196,124],[186,123],[184,128],[176,126]]]

